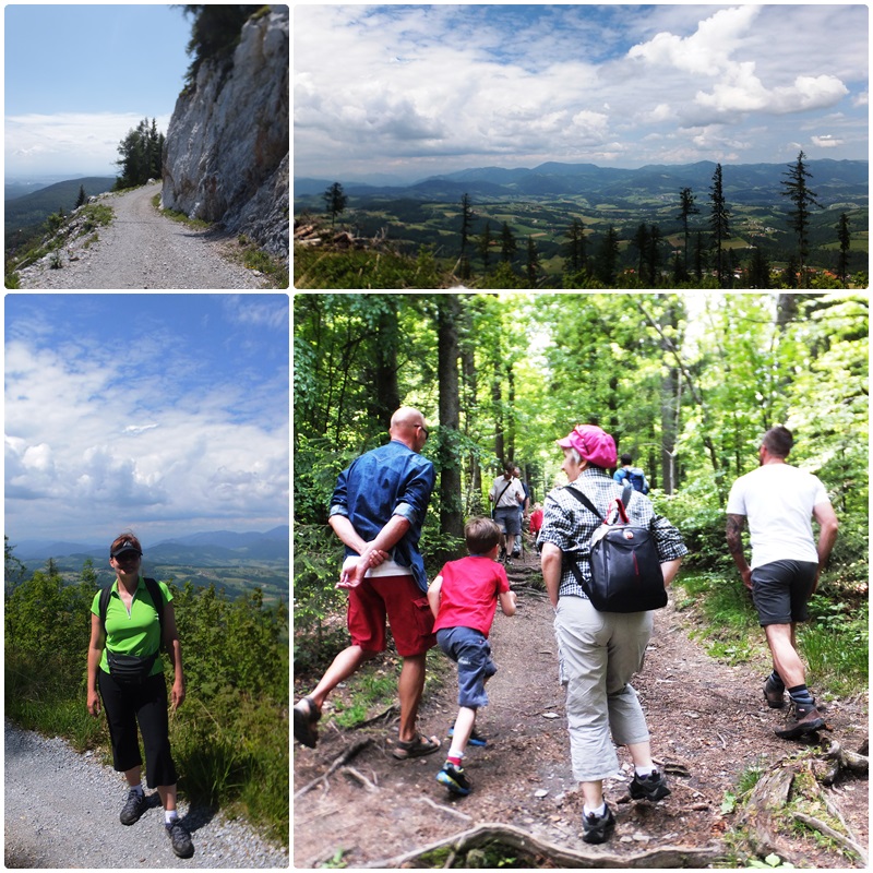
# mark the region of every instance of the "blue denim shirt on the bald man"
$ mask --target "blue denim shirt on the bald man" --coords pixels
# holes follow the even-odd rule
[[[330,515],[345,515],[367,541],[402,515],[409,529],[394,547],[394,560],[412,570],[418,587],[428,590],[424,559],[418,550],[435,474],[433,464],[404,443],[392,440],[373,449],[343,470],[331,498]],[[346,547],[346,557],[356,554]]]

